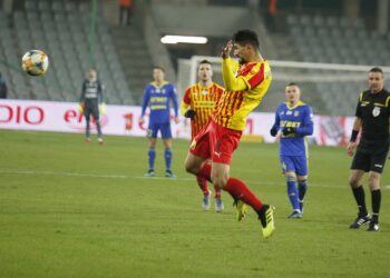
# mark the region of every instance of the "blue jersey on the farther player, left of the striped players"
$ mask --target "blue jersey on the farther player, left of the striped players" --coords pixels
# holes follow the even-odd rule
[[[152,82],[145,87],[142,117],[145,116],[146,108],[150,108],[149,123],[169,122],[169,101],[173,101],[175,116],[177,117],[176,89],[172,83],[163,82],[160,87]]]

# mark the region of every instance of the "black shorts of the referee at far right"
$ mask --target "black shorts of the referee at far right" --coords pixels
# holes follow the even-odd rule
[[[369,152],[358,149],[352,160],[351,170],[363,170],[365,172],[374,171],[382,173],[387,158],[388,151]]]

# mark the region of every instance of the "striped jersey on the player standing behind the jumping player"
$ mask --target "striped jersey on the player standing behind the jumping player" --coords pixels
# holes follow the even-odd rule
[[[196,83],[188,87],[185,91],[183,102],[191,106],[191,109],[196,112],[195,118],[191,121],[191,133],[193,138],[211,119],[216,102],[220,100],[224,88],[214,82],[208,87],[202,87],[199,83]]]

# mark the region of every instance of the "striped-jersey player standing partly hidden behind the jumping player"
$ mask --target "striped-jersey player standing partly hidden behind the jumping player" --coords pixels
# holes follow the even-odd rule
[[[181,112],[184,117],[191,119],[191,137],[199,133],[201,129],[207,125],[215,105],[221,98],[224,88],[213,82],[213,67],[207,60],[199,62],[197,68],[198,82],[186,89],[181,105]],[[211,190],[207,180],[202,176],[196,176],[197,183],[203,191],[204,210],[211,207]],[[223,211],[224,205],[221,199],[221,188],[214,186],[215,189],[215,210]]]

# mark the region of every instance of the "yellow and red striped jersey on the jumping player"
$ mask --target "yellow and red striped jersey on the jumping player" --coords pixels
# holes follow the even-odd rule
[[[240,66],[232,59],[226,59],[235,72],[235,78],[242,78],[246,85],[246,90],[223,92],[213,115],[213,120],[230,129],[244,130],[247,115],[255,109],[262,101],[264,95],[270,88],[272,73],[266,60],[261,62],[247,62]],[[225,72],[223,69],[224,80],[230,78],[232,72]]]

